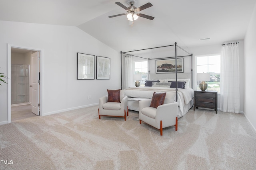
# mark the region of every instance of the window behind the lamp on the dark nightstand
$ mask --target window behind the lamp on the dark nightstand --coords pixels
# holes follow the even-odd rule
[[[218,91],[220,93],[220,55],[200,56],[196,57],[197,73],[209,72],[210,81],[208,82],[208,90]],[[201,81],[197,81],[198,84]]]

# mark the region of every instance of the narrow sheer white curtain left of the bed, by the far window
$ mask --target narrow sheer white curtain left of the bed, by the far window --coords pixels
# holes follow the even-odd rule
[[[134,86],[132,71],[132,56],[125,56],[124,60],[124,89]]]

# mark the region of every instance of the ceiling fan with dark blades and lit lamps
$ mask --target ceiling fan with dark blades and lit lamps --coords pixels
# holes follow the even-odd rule
[[[118,14],[118,15],[114,15],[114,16],[109,16],[108,18],[127,15],[127,18],[128,18],[129,21],[135,21],[139,18],[139,16],[142,17],[142,18],[149,19],[149,20],[154,20],[154,17],[152,17],[152,16],[148,16],[148,15],[139,13],[140,11],[145,10],[146,8],[149,8],[149,7],[153,6],[151,3],[148,2],[147,4],[144,4],[144,5],[140,6],[139,8],[136,8],[134,6],[135,2],[136,2],[135,0],[128,1],[127,3],[130,4],[129,7],[124,6],[120,2],[115,2],[115,4],[117,4],[118,6],[124,8],[126,10],[126,13]]]

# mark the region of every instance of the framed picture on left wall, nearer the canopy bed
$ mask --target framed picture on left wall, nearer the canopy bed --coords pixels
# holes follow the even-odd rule
[[[110,58],[97,56],[96,79],[110,79]]]

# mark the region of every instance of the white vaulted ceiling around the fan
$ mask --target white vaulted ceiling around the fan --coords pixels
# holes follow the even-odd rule
[[[76,26],[116,51],[177,42],[184,48],[244,39],[256,0],[136,0],[153,6],[128,21],[115,2],[128,0],[0,0],[0,20]],[[208,38],[210,40],[200,41]]]

